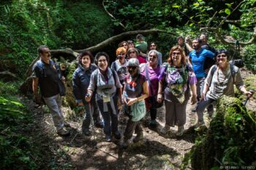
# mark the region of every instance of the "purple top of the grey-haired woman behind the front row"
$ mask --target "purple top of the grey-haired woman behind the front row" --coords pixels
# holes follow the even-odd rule
[[[150,85],[148,86],[151,86],[151,87],[148,87],[149,96],[156,96],[158,92],[158,82],[159,82],[158,77],[160,74],[161,66],[157,66],[156,69],[151,69],[147,63],[143,64],[140,70],[141,70],[141,74],[143,74],[147,80],[148,80],[148,77],[146,75],[146,66],[148,68],[148,77],[150,80]]]

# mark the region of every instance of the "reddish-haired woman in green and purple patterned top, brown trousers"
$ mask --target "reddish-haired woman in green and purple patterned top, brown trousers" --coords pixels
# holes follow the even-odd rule
[[[162,100],[162,82],[166,82],[165,93],[165,128],[162,133],[170,130],[170,126],[178,125],[176,136],[184,133],[186,123],[186,108],[189,101],[190,89],[192,90],[192,104],[197,102],[195,83],[197,82],[195,73],[190,65],[186,63],[186,58],[180,46],[171,48],[167,66],[162,69],[159,81],[157,98]],[[165,76],[163,76],[165,75]]]

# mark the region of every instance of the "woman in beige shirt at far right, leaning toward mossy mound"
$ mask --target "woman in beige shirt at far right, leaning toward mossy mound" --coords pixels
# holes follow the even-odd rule
[[[222,96],[235,96],[234,85],[246,96],[251,97],[252,93],[247,91],[242,80],[238,67],[228,62],[227,50],[218,50],[217,65],[211,66],[203,87],[200,103],[197,105],[198,121],[195,128],[205,125],[203,112],[214,101]]]

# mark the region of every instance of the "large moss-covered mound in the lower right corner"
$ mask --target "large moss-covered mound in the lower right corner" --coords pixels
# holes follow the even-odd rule
[[[238,98],[222,96],[206,136],[190,153],[192,169],[252,164],[256,160],[255,112],[247,112]]]

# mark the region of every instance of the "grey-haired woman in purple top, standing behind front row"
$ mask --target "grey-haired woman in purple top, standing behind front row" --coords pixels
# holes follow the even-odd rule
[[[159,88],[159,74],[161,70],[161,66],[158,61],[159,52],[157,50],[150,50],[148,52],[148,62],[140,64],[140,71],[146,79],[148,80],[149,86],[149,97],[146,98],[146,106],[149,109],[151,121],[149,126],[151,128],[156,128],[157,126],[157,108],[160,106],[159,103],[162,101],[157,101],[157,92]]]

